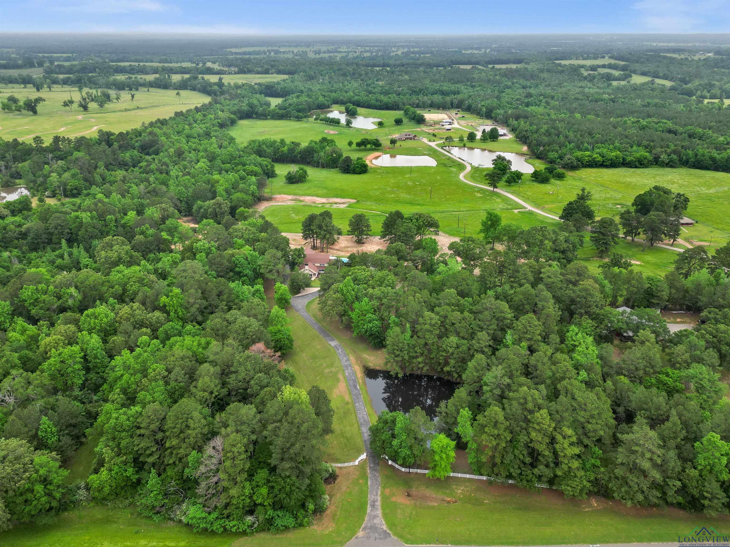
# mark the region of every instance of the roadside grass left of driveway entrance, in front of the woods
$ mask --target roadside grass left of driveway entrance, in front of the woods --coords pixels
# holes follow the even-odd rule
[[[177,522],[153,522],[137,509],[87,507],[67,511],[49,524],[23,525],[0,532],[3,547],[303,547],[342,546],[353,538],[367,509],[367,465],[338,470],[335,484],[325,486],[330,505],[312,527],[253,536],[193,532]]]

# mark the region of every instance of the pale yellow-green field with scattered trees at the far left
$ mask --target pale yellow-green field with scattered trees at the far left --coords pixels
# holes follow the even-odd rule
[[[23,114],[0,113],[0,137],[6,140],[11,139],[32,139],[40,135],[45,141],[55,134],[74,137],[80,135],[94,136],[96,131],[126,131],[127,129],[139,127],[143,122],[151,122],[158,118],[170,117],[178,110],[187,110],[210,100],[210,97],[196,91],[181,90],[178,98],[175,90],[163,90],[150,88],[149,91],[141,89],[136,92],[134,101],[131,100],[128,92],[120,92],[121,100],[114,99],[114,90],[110,90],[112,102],[103,109],[91,104],[88,112],[84,112],[77,106],[69,109],[61,106],[67,98],[78,101],[79,92],[77,88],[57,85],[51,91],[43,89],[36,91],[28,86],[5,85],[0,88],[0,100],[7,100],[7,96],[15,95],[22,102],[26,97],[45,98],[45,103],[38,106],[38,114],[30,112]],[[84,93],[88,89],[84,90]]]

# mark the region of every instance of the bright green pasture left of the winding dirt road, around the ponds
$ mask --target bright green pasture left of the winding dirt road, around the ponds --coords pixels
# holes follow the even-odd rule
[[[429,212],[436,217],[441,230],[451,236],[464,234],[474,235],[480,227],[480,221],[486,210],[499,211],[505,222],[517,222],[523,226],[544,223],[537,214],[513,212],[518,209],[517,203],[497,193],[482,188],[465,185],[458,179],[464,170],[461,163],[448,158],[420,141],[399,141],[390,149],[389,136],[404,131],[412,131],[415,125],[396,126],[393,117],[399,112],[358,109],[362,115],[380,117],[385,121],[383,128],[357,129],[345,128],[342,125],[331,126],[314,121],[296,120],[242,120],[231,128],[233,134],[242,144],[250,139],[286,139],[306,144],[311,139],[328,136],[337,142],[346,155],[353,158],[365,157],[380,150],[358,150],[347,146],[347,141],[358,141],[363,136],[377,136],[385,147],[386,154],[429,155],[437,161],[435,167],[371,167],[366,174],[342,174],[337,169],[320,169],[307,166],[309,178],[300,185],[287,185],[284,174],[292,166],[277,163],[277,176],[271,179],[274,194],[313,195],[322,198],[350,198],[351,203],[345,208],[330,207],[334,221],[343,231],[347,230],[347,221],[356,212],[364,212],[373,227],[373,233],[380,233],[380,224],[385,214],[399,209],[404,214]],[[337,131],[337,133],[325,133]],[[425,133],[425,132],[424,132]],[[418,133],[417,133],[418,134]],[[264,210],[267,218],[277,224],[285,232],[301,231],[301,221],[312,212],[323,209],[314,205],[274,205]]]

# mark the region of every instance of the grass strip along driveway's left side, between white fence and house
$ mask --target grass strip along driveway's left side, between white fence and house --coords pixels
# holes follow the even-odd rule
[[[300,230],[301,231],[301,226]],[[296,385],[318,385],[327,392],[334,409],[334,432],[328,436],[325,459],[331,463],[352,462],[365,451],[355,405],[347,388],[345,371],[334,348],[293,309],[287,312],[294,349],[283,363],[296,373]]]

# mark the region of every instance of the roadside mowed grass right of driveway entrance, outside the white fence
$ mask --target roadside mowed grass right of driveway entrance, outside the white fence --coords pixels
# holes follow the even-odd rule
[[[431,480],[385,462],[380,481],[385,524],[411,545],[671,543],[696,526],[730,529],[727,516],[626,508],[600,497],[565,500],[551,490],[529,492],[464,478]]]

